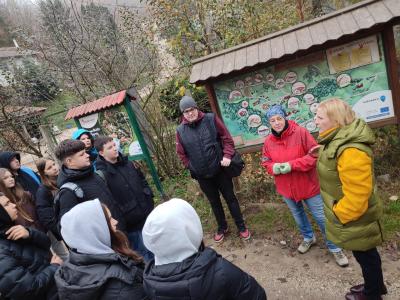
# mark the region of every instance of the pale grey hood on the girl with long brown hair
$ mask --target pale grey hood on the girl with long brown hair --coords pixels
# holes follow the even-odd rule
[[[114,253],[111,236],[98,199],[74,206],[61,218],[61,235],[67,245],[83,254]]]

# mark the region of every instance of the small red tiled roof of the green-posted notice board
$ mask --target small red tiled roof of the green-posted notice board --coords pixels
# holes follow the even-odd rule
[[[92,102],[88,102],[88,103],[73,107],[67,112],[67,115],[65,116],[65,120],[83,117],[83,116],[90,115],[92,113],[101,111],[103,109],[122,104],[122,102],[124,102],[125,95],[126,95],[126,91],[124,90],[124,91],[120,91],[118,93],[94,100]]]

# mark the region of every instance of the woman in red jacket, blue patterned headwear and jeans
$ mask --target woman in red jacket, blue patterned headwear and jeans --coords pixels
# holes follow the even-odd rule
[[[264,142],[262,165],[268,174],[275,177],[276,189],[288,205],[303,235],[297,250],[304,254],[316,244],[316,238],[303,203],[325,238],[325,215],[315,168],[317,155],[314,153],[317,152],[318,144],[305,128],[285,117],[286,113],[280,105],[267,111],[271,134]],[[326,245],[339,266],[348,266],[348,259],[342,249],[328,240]]]

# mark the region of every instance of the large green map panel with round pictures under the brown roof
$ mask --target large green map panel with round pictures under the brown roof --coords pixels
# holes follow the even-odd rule
[[[214,84],[222,118],[239,148],[270,133],[265,112],[281,104],[310,132],[318,104],[347,101],[367,122],[394,117],[382,40],[371,36]]]

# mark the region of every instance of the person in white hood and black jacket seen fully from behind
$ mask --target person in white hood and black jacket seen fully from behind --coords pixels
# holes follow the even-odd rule
[[[200,218],[188,202],[171,199],[152,211],[143,227],[144,244],[154,253],[144,272],[150,299],[267,299],[252,276],[202,240]]]

